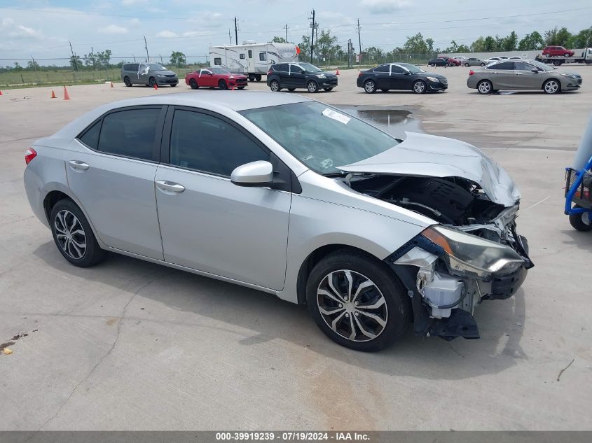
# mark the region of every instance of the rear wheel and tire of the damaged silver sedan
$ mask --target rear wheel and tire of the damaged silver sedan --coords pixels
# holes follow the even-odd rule
[[[106,251],[101,249],[88,220],[71,199],[57,202],[49,220],[57,250],[72,265],[89,267],[104,260]]]

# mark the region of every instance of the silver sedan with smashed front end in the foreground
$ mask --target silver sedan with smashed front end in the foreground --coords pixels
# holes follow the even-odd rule
[[[29,203],[72,265],[107,251],[308,305],[335,342],[477,338],[474,307],[532,267],[520,194],[467,143],[405,140],[294,94],[101,106],[25,155]]]

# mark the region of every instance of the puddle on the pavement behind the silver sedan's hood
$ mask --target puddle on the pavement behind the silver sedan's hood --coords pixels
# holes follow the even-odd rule
[[[411,117],[411,111],[393,109],[388,107],[369,106],[336,106],[342,111],[354,115],[371,125],[377,126],[383,131],[399,139],[405,138],[405,132],[424,132],[420,120]]]

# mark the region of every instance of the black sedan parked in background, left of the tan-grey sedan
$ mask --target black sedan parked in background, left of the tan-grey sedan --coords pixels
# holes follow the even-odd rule
[[[388,63],[360,72],[357,85],[363,87],[368,94],[373,94],[376,90],[411,90],[416,94],[423,94],[427,91],[446,90],[448,80],[414,64]]]

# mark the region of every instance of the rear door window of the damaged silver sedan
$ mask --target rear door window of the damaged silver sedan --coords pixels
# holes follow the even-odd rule
[[[153,160],[158,115],[160,108],[130,109],[105,115],[97,150],[106,154]]]

